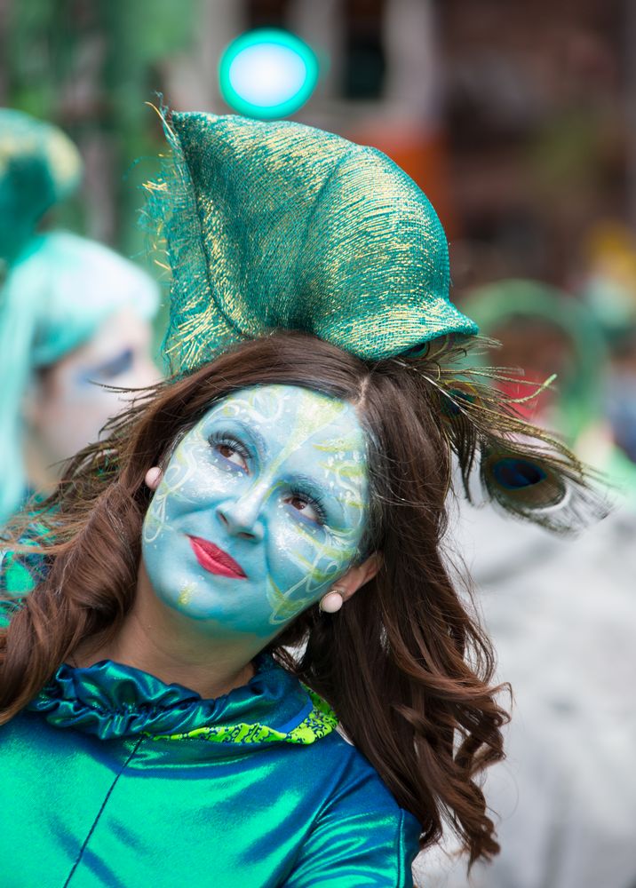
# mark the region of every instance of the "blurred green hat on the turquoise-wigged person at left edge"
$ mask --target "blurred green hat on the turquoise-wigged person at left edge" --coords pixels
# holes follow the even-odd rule
[[[0,108],[0,259],[12,264],[81,172],[75,145],[56,126]]]

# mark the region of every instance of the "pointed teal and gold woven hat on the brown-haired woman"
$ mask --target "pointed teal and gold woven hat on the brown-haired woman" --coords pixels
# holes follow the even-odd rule
[[[363,359],[477,326],[449,302],[449,250],[386,155],[300,123],[176,114],[147,184],[171,267],[165,350],[192,369],[237,341],[298,329]]]

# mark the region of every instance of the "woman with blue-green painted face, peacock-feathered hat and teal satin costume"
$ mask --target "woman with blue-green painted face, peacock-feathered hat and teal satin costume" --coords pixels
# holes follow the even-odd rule
[[[5,604],[6,884],[394,888],[444,822],[489,857],[505,712],[442,557],[451,456],[553,529],[582,467],[462,363],[441,225],[384,155],[166,130],[175,376],[68,465]]]

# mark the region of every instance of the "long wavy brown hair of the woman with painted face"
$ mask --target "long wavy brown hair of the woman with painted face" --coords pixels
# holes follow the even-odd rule
[[[44,580],[0,630],[0,723],[39,691],[86,638],[112,637],[131,609],[144,475],[215,400],[250,385],[301,385],[349,400],[368,431],[370,546],[378,575],[338,614],[317,606],[284,630],[274,656],[322,694],[397,802],[422,846],[448,821],[471,862],[497,853],[476,778],[503,757],[505,712],[489,682],[489,641],[467,612],[441,553],[450,456],[430,385],[404,362],[365,363],[314,337],[274,334],[240,345],[147,393],[107,440],[69,464],[41,519]],[[49,516],[48,519],[46,516]],[[290,644],[306,642],[296,659]]]

